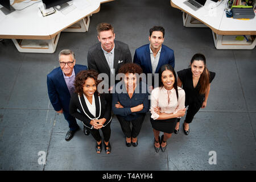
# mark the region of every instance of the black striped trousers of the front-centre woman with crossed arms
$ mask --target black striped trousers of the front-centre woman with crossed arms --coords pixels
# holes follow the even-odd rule
[[[121,125],[122,131],[127,138],[137,138],[139,132],[141,131],[142,123],[144,121],[145,115],[137,119],[127,121],[124,117],[118,116],[117,119]],[[130,128],[130,124],[132,127]]]

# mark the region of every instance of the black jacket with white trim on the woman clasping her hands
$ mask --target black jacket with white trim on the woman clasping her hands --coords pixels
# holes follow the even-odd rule
[[[72,95],[71,100],[69,102],[69,114],[73,115],[73,117],[82,121],[82,123],[90,129],[93,129],[93,126],[90,125],[90,121],[95,118],[106,119],[106,122],[104,123],[103,127],[109,125],[112,121],[110,98],[107,97],[106,94],[101,94],[100,96],[98,96],[96,92],[94,93],[94,98],[96,105],[96,117],[94,117],[92,113],[90,113],[90,111],[88,110],[88,107],[84,100],[84,96],[78,96],[78,94],[75,93]],[[77,109],[79,111],[77,111]]]

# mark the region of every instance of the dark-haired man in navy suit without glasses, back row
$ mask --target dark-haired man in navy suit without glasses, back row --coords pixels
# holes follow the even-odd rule
[[[145,74],[158,73],[164,64],[170,64],[174,68],[174,51],[163,45],[164,28],[160,26],[150,28],[148,40],[150,44],[136,49],[133,63],[140,65]],[[150,87],[152,89],[154,83]]]

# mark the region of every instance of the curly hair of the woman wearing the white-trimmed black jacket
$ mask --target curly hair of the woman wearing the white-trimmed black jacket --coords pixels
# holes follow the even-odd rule
[[[80,71],[75,78],[75,92],[77,94],[79,94],[79,96],[82,96],[82,94],[84,93],[83,91],[83,87],[85,84],[85,80],[87,80],[87,78],[93,78],[95,80],[96,86],[98,86],[98,84],[100,83],[100,81],[97,80],[98,78],[98,73],[94,70],[83,70]],[[96,90],[97,92],[97,90]],[[98,92],[97,92],[98,93]]]

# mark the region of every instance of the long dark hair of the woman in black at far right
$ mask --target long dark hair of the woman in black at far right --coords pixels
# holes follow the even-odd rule
[[[200,83],[200,90],[199,93],[200,94],[205,94],[205,91],[207,90],[209,84],[210,84],[210,79],[209,79],[209,70],[206,67],[206,59],[205,56],[201,53],[196,53],[195,55],[193,55],[190,64],[192,64],[194,61],[203,61],[204,62],[204,71],[201,74],[200,78],[199,78],[199,83]]]

